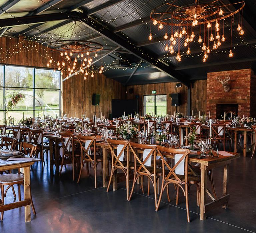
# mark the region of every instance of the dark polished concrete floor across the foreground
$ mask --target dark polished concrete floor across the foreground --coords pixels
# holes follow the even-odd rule
[[[0,222],[0,232],[256,232],[256,158],[240,157],[230,165],[230,202],[228,209],[218,207],[200,221],[196,206],[196,190],[190,191],[190,217],[187,223],[185,199],[175,204],[175,192],[170,188],[171,202],[163,197],[155,212],[153,193],[143,195],[138,185],[130,202],[126,201],[123,183],[119,189],[106,193],[102,182],[94,188],[93,176],[85,172],[79,184],[72,181],[71,167],[61,177],[51,174],[49,165],[34,164],[31,170],[32,195],[37,214],[24,222],[24,208],[6,211]],[[214,170],[217,195],[222,192],[222,169]],[[145,186],[146,189],[146,186]],[[17,193],[17,187],[16,187]],[[23,194],[22,194],[23,195]],[[11,189],[6,202],[12,202]],[[32,211],[31,211],[32,213]]]

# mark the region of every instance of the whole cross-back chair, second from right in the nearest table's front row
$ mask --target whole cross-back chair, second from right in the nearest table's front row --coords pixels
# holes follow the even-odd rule
[[[130,150],[133,153],[134,156],[134,178],[133,178],[133,183],[132,183],[132,190],[129,196],[129,201],[131,200],[133,190],[135,183],[139,177],[146,176],[148,178],[148,195],[149,195],[149,188],[150,188],[150,182],[153,184],[154,187],[154,197],[155,197],[155,208],[157,206],[157,190],[156,190],[156,185],[157,185],[157,180],[159,177],[162,175],[162,169],[157,167],[156,164],[156,145],[146,145],[146,144],[138,144],[134,142],[129,142]],[[148,153],[147,157],[143,160],[139,158],[137,155],[136,149],[150,149],[150,152]],[[149,158],[153,157],[153,166],[147,166],[145,163]],[[143,179],[142,179],[143,182]],[[141,183],[142,190],[143,190],[143,183]]]

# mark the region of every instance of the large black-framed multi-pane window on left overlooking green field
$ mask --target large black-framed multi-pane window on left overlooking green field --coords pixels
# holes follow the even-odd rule
[[[14,109],[5,101],[14,92],[25,95]],[[41,110],[42,109],[42,110]],[[61,113],[60,71],[35,67],[0,65],[0,122],[14,118],[14,123],[25,117],[56,116]]]

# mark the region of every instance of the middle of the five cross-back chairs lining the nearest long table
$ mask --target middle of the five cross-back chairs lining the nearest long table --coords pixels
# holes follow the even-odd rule
[[[111,181],[113,179],[113,190],[116,190],[117,183],[115,177],[117,176],[117,169],[120,169],[122,172],[124,172],[126,176],[126,188],[127,188],[127,200],[129,199],[129,174],[130,171],[134,169],[134,162],[130,161],[129,156],[129,142],[125,140],[112,140],[107,138],[107,142],[111,151],[111,174],[110,179],[108,182],[107,192],[109,191],[109,187],[111,184]],[[123,145],[122,150],[117,154],[115,152],[115,147],[118,145]],[[126,155],[124,154],[124,161],[120,161],[120,157],[123,152],[126,151]],[[115,176],[113,178],[113,176]]]

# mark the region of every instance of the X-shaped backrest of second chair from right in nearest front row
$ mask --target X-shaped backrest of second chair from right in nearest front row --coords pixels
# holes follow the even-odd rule
[[[137,170],[137,172],[139,173],[141,171],[141,169],[143,169],[143,172],[146,172],[149,176],[152,175],[152,173],[148,170],[148,166],[151,166],[151,159],[152,159],[152,156],[153,156],[153,167],[154,167],[154,175],[156,175],[156,145],[150,145],[150,144],[138,144],[138,143],[135,143],[135,142],[129,142],[129,146],[130,146],[130,149],[133,153],[133,156],[134,156],[134,167],[135,169]],[[143,153],[143,157],[142,157],[142,161],[141,159],[139,158],[139,156],[137,155],[136,153],[136,150],[137,149],[142,149],[143,152],[145,151],[145,149],[150,149],[150,151],[147,151],[146,152],[146,156],[144,157],[144,153]],[[150,165],[146,165],[146,163],[148,162],[148,159],[149,159],[149,162],[150,162]],[[139,163],[139,167],[136,168],[136,163]]]

